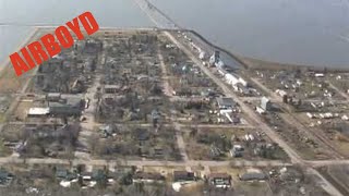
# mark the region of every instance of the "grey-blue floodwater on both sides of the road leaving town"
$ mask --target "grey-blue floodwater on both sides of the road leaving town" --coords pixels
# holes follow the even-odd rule
[[[178,24],[234,53],[282,63],[349,68],[348,0],[151,0]],[[0,23],[63,24],[92,11],[100,26],[148,27],[133,0],[0,0]],[[0,62],[28,27],[0,27]]]

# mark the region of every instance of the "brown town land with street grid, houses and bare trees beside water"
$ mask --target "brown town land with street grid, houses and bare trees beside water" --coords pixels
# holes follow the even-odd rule
[[[349,195],[349,69],[241,57],[134,3],[155,27],[1,64],[0,196]]]

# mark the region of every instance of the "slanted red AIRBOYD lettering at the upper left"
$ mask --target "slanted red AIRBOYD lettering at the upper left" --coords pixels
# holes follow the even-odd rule
[[[49,60],[61,52],[62,48],[70,48],[74,45],[71,32],[75,34],[79,40],[84,39],[84,35],[80,29],[83,25],[87,35],[92,35],[99,29],[99,25],[91,12],[85,12],[72,21],[65,23],[68,26],[59,26],[53,34],[46,34],[40,41],[33,41],[27,47],[21,49],[22,57],[19,52],[10,56],[13,69],[17,76],[32,70],[36,65],[40,65],[44,61]],[[70,32],[71,30],[71,32]]]

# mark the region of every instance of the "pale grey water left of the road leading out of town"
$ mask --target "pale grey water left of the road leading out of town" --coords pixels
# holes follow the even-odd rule
[[[64,24],[91,11],[100,26],[154,26],[132,0],[0,0],[0,23]],[[0,62],[17,49],[32,27],[0,26]]]

